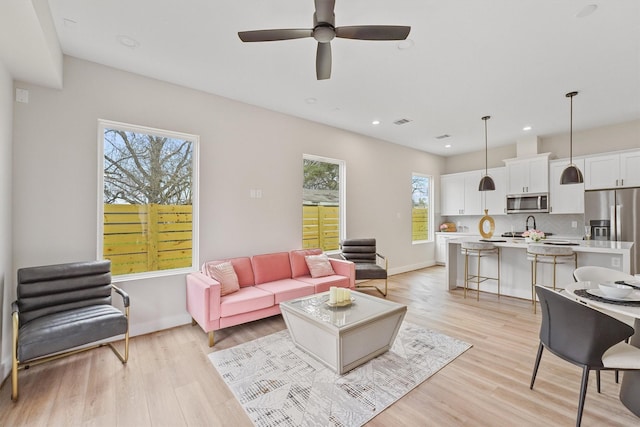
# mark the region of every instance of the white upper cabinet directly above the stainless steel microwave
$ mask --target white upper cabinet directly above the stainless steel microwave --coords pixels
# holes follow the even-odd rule
[[[548,193],[549,154],[505,160],[507,194]]]

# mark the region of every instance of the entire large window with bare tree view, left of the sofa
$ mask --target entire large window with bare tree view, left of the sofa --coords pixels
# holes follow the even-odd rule
[[[98,258],[114,276],[197,265],[198,137],[100,120]]]

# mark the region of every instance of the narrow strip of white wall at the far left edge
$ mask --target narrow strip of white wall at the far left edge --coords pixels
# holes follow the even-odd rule
[[[0,61],[0,379],[11,369],[11,301],[15,298],[11,257],[11,133],[13,79]]]

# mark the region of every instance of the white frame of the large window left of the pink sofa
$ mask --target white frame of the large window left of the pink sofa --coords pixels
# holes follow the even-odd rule
[[[148,279],[155,277],[168,277],[185,273],[191,273],[199,268],[199,165],[200,165],[200,137],[184,132],[170,131],[166,129],[152,128],[148,126],[134,125],[130,123],[116,122],[112,120],[98,119],[98,215],[97,215],[97,259],[104,259],[104,132],[105,129],[116,129],[126,132],[144,133],[167,138],[192,141],[191,152],[191,266],[173,268],[167,270],[145,271],[141,273],[120,274],[112,276],[114,283],[129,280]]]

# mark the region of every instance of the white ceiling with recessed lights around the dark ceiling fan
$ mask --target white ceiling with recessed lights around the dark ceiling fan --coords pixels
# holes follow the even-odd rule
[[[577,17],[590,1],[595,12]],[[311,28],[313,0],[49,5],[67,55],[443,156],[482,150],[485,115],[490,147],[567,133],[573,90],[574,131],[640,118],[638,0],[336,0],[336,26],[410,25],[413,47],[334,39],[324,81],[312,38],[237,36]]]

